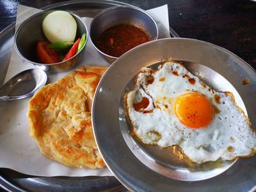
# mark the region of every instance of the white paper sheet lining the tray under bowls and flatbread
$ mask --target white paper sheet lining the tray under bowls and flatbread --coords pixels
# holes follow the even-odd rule
[[[32,7],[18,5],[16,27],[31,15],[41,11]],[[147,11],[159,27],[159,38],[170,37],[167,5]],[[161,12],[161,14],[159,14]],[[89,27],[91,18],[83,18]],[[82,65],[107,65],[97,50],[91,45],[89,39],[86,51],[83,55]],[[78,66],[79,67],[79,66]],[[33,64],[22,60],[18,53],[12,49],[9,68],[4,82],[15,74],[26,69],[35,68]],[[56,82],[69,72],[49,74],[48,83]],[[29,136],[29,126],[26,112],[29,99],[19,101],[0,102],[0,167],[10,168],[24,174],[38,176],[110,176],[113,175],[108,168],[105,169],[80,169],[64,166],[48,158],[45,158],[37,147],[37,143]]]

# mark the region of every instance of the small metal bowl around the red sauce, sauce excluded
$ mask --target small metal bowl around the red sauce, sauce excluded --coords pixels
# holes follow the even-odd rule
[[[97,47],[96,42],[99,34],[119,24],[132,24],[141,28],[148,35],[149,41],[158,38],[157,23],[143,9],[131,6],[116,6],[99,12],[91,21],[89,35],[92,45],[94,45],[99,54],[106,58],[110,64],[116,61],[117,57],[103,53],[102,50],[99,50]]]

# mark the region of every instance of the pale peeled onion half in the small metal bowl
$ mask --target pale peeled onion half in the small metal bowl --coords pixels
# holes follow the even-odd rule
[[[51,43],[74,42],[77,23],[68,12],[51,12],[42,21],[42,31]]]

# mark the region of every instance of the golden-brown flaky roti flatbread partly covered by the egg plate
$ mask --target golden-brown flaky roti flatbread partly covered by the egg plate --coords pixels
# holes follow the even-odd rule
[[[105,166],[91,127],[91,103],[106,66],[82,66],[29,101],[29,131],[41,153],[67,166]]]

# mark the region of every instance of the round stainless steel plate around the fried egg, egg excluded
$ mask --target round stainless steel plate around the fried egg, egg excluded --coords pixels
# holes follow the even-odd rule
[[[124,92],[132,88],[132,79],[142,66],[170,58],[185,61],[190,71],[218,91],[232,91],[238,105],[247,110],[252,128],[255,128],[256,73],[251,66],[208,42],[160,39],[122,55],[99,82],[92,118],[94,135],[105,162],[118,180],[132,191],[166,191],[170,188],[173,191],[248,191],[256,183],[255,157],[239,159],[235,164],[225,162],[217,169],[206,166],[206,169],[191,173],[185,167],[167,165],[165,155],[130,137],[122,104]],[[248,85],[242,85],[244,78],[250,80]],[[204,180],[209,177],[213,178]],[[241,180],[241,177],[247,180]]]

